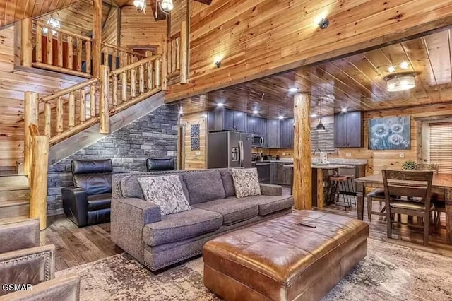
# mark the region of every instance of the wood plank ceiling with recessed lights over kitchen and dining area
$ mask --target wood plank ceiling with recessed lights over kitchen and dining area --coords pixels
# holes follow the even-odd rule
[[[311,90],[312,113],[318,114],[317,100],[323,99],[323,115],[343,108],[370,111],[452,102],[451,48],[451,30],[444,30],[307,67],[308,74],[302,78],[290,72],[189,98],[183,102],[184,112],[211,110],[223,102],[225,107],[250,114],[257,110],[262,117],[292,117],[294,93],[287,89],[293,87]],[[406,69],[400,67],[402,62]],[[390,66],[396,71],[390,72]],[[387,92],[385,76],[400,72],[415,73],[416,87]]]

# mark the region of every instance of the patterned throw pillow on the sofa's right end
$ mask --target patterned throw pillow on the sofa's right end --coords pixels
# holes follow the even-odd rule
[[[256,168],[232,168],[232,179],[237,198],[262,194]]]

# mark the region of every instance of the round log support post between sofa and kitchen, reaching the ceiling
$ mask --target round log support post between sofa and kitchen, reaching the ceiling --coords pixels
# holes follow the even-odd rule
[[[303,77],[303,71],[296,71],[297,81],[302,82],[302,91],[294,96],[294,169],[293,190],[295,209],[312,208],[311,178],[311,90]]]

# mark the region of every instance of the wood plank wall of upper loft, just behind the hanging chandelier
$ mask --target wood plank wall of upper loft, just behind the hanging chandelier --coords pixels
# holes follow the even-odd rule
[[[151,14],[138,13],[135,6],[121,8],[121,46],[161,45],[162,35],[167,33],[167,21],[155,21]]]

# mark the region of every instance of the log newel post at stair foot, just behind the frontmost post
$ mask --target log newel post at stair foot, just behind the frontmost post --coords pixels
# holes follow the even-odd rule
[[[36,92],[25,92],[25,136],[23,143],[23,173],[29,176],[31,173],[32,163],[32,137],[30,134],[30,124],[37,124],[37,117],[39,114],[39,97]]]

